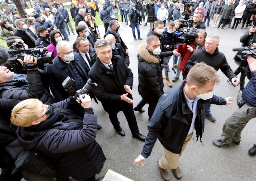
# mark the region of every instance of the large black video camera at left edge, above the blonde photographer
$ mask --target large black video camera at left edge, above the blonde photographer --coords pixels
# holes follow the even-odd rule
[[[11,49],[12,48],[12,49]],[[25,48],[23,44],[19,42],[13,43],[9,50],[7,50],[10,54],[10,65],[12,69],[24,69],[24,67],[20,64],[18,59],[23,60],[25,55],[33,55],[37,58],[37,66],[44,66],[45,63],[52,64],[53,54],[52,52],[48,52],[45,54],[46,51],[48,51],[47,47],[44,47],[43,42],[40,43],[40,45],[37,48]],[[33,68],[33,67],[31,67]]]

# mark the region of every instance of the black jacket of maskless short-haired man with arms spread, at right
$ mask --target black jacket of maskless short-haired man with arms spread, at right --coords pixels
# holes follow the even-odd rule
[[[194,66],[195,62],[204,62],[217,71],[220,69],[230,80],[233,77],[236,77],[236,75],[228,65],[225,55],[219,52],[218,47],[213,54],[207,53],[205,51],[205,47],[193,53],[189,58],[188,62],[186,63],[186,69],[189,71]]]

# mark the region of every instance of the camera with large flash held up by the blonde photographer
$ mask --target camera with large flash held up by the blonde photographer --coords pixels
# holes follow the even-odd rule
[[[92,83],[92,80],[88,78],[87,82],[85,83],[84,87],[80,91],[75,91],[75,89],[71,86],[75,81],[70,78],[69,76],[62,82],[62,87],[75,99],[80,101],[79,96],[82,95],[84,98],[84,94],[89,94],[94,87],[96,87],[97,83]]]

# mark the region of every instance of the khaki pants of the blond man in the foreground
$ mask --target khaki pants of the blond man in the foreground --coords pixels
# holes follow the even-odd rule
[[[182,155],[183,151],[185,150],[185,148],[188,144],[188,141],[191,140],[192,135],[193,135],[193,133],[189,134],[186,137],[180,154],[172,153],[164,148],[164,157],[159,159],[159,167],[164,170],[176,169],[179,164],[179,158]]]

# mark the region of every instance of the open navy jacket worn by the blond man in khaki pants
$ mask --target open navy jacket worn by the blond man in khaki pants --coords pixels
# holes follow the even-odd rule
[[[148,135],[141,152],[144,158],[150,156],[152,148],[158,138],[167,150],[175,154],[181,153],[182,145],[191,126],[193,112],[188,108],[183,86],[186,80],[169,91],[158,101],[155,112],[148,123]],[[195,120],[196,138],[200,140],[204,133],[204,119],[209,104],[225,105],[226,99],[213,95],[211,99],[199,99],[197,102],[197,116]]]

